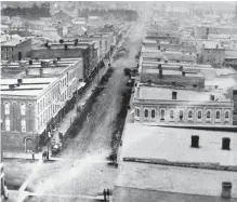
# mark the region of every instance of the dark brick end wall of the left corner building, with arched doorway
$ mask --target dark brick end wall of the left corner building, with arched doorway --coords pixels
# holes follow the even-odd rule
[[[36,147],[36,100],[16,97],[2,97],[1,119],[2,119],[2,140],[3,150],[25,151],[25,138],[30,137]],[[5,115],[4,104],[10,104],[10,115]],[[21,104],[25,104],[25,116],[21,115]],[[5,120],[10,120],[10,131],[5,131]],[[22,120],[26,120],[26,131],[22,131]]]

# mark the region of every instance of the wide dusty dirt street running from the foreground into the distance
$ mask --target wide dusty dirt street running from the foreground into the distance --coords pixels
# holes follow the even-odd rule
[[[110,140],[118,127],[116,119],[127,89],[123,68],[137,65],[135,55],[141,49],[143,26],[136,24],[126,39],[123,46],[128,54],[111,64],[114,73],[96,97],[79,134],[67,140],[61,153],[64,160],[42,164],[29,183],[26,190],[40,197],[25,201],[68,201],[70,196],[71,201],[76,201],[74,196],[93,197],[102,194],[104,189],[113,189],[118,170],[109,167],[106,158],[111,153]],[[43,197],[47,194],[52,196]],[[69,197],[65,199],[65,194]]]

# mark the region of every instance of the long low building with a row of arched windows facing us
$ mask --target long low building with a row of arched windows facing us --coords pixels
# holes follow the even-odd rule
[[[221,93],[139,85],[135,121],[153,124],[232,125],[234,102]]]

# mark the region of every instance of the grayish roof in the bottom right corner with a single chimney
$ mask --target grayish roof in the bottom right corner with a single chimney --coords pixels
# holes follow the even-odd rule
[[[139,194],[141,198],[139,198],[139,196],[131,196],[133,199],[137,199],[139,202],[157,200],[162,202],[221,202],[225,201],[221,199],[222,181],[232,181],[234,185],[232,188],[233,199],[229,201],[237,201],[236,172],[175,167],[135,162],[120,163],[119,171],[113,197],[115,198],[115,201],[120,201],[119,199],[121,198],[126,199],[128,202],[133,201],[129,196],[119,196],[119,193],[116,193],[116,187],[121,187],[123,189],[140,189],[146,192],[146,196]],[[159,194],[160,198],[154,199],[154,196],[152,197],[148,194],[149,191],[160,191],[163,193]],[[167,196],[171,193],[174,193],[175,196],[172,198],[171,196]],[[187,196],[180,196],[182,193],[190,196],[188,198]],[[214,199],[211,197],[214,197]]]

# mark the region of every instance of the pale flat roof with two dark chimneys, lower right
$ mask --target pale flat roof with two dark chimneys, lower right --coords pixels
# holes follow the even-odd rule
[[[192,135],[199,136],[200,148],[190,147]],[[222,150],[223,137],[231,138],[231,150]],[[141,123],[128,123],[124,129],[121,157],[187,163],[220,163],[221,165],[236,166],[237,136],[236,132],[161,127],[143,125]]]

